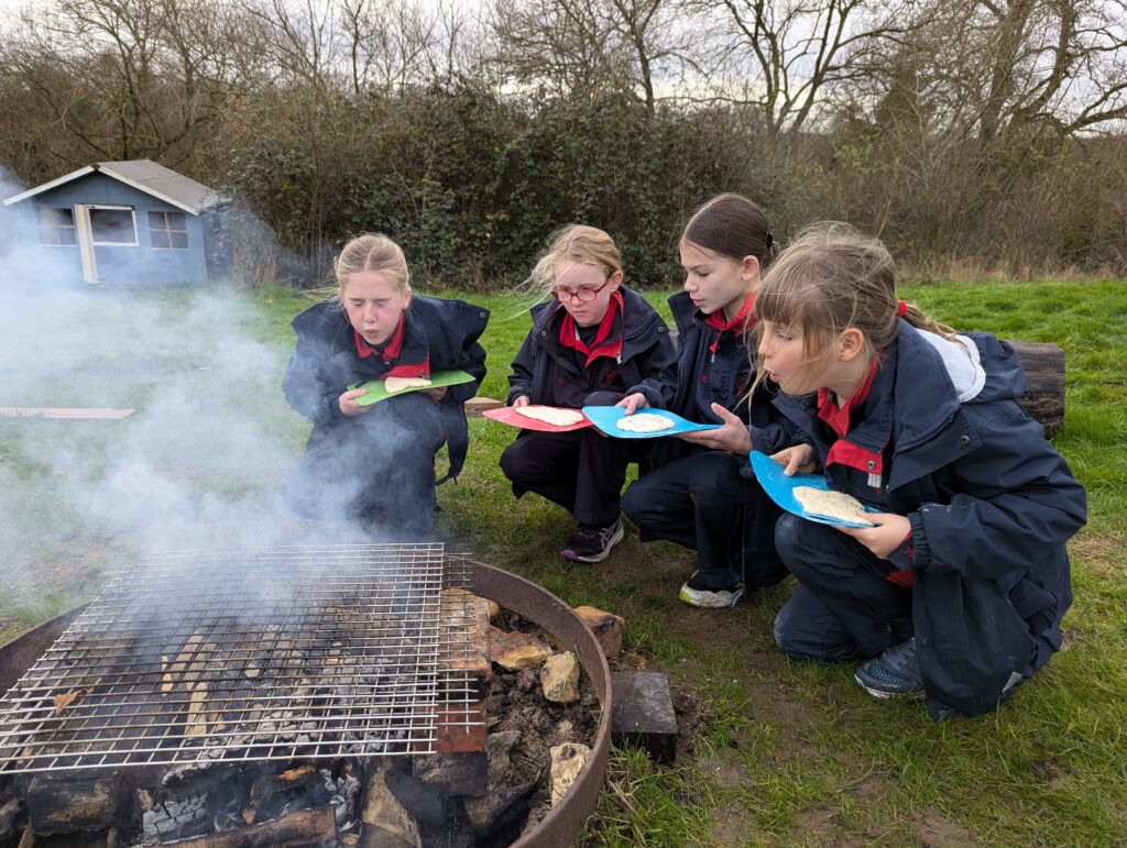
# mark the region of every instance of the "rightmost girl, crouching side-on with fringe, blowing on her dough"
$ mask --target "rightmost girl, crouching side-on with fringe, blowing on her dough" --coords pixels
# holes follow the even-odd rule
[[[1085,521],[1084,490],[1018,405],[1017,355],[898,301],[884,246],[842,224],[783,251],[757,307],[758,380],[792,444],[756,447],[878,510],[871,527],[779,520],[799,581],[779,646],[872,658],[861,686],[925,696],[935,718],[993,709],[1061,648],[1065,542]]]

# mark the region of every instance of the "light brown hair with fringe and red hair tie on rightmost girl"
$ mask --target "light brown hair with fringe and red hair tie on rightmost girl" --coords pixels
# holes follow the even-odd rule
[[[834,343],[854,328],[870,356],[896,339],[899,300],[893,257],[880,242],[849,224],[822,222],[802,230],[763,275],[755,295],[761,321],[802,333],[802,376],[822,371]],[[906,305],[913,327],[955,339],[956,331]],[[764,377],[762,361],[755,384]]]

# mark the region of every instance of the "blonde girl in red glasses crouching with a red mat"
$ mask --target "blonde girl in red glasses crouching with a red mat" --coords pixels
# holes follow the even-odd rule
[[[508,378],[511,405],[614,405],[628,385],[673,363],[668,328],[641,295],[622,285],[619,250],[602,230],[575,225],[556,233],[527,285],[551,300],[532,307],[532,329]],[[502,454],[500,467],[517,498],[535,492],[575,518],[565,559],[602,562],[621,541],[630,444],[594,428],[522,430]]]

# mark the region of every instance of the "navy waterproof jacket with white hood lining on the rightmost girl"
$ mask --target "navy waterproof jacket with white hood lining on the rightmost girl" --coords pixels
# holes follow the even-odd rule
[[[1086,500],[1018,404],[1026,377],[1009,345],[971,333],[978,380],[957,387],[938,337],[899,323],[863,420],[845,437],[857,455],[881,457],[877,479],[849,465],[826,467],[836,435],[817,419],[813,395],[780,394],[774,403],[791,426],[790,444],[814,445],[831,488],[912,523],[906,555],[894,552],[890,562],[915,569],[913,619],[929,708],[937,718],[975,715],[1061,648],[1061,618],[1072,602],[1065,542],[1084,525]]]

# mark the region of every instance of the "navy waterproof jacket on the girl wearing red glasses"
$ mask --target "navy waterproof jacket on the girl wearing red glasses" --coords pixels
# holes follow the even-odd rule
[[[623,385],[632,385],[668,368],[674,361],[669,328],[637,292],[620,287],[622,293],[622,352],[619,367]],[[508,377],[512,389],[507,403],[524,395],[532,403],[547,403],[553,396],[552,381],[577,374],[575,354],[559,341],[560,313],[557,301],[532,307],[532,329],[513,360]]]

